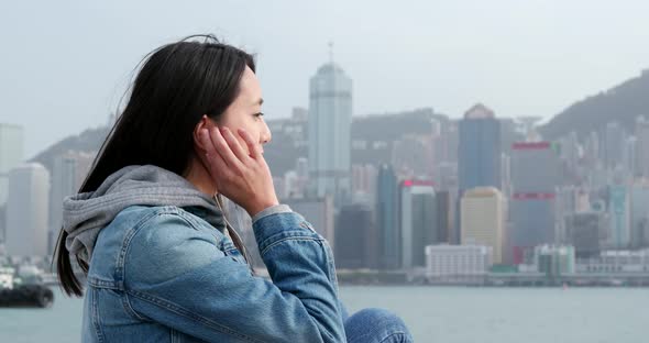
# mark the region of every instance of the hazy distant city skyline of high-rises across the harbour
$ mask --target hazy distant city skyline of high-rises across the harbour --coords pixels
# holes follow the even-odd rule
[[[353,115],[333,60],[309,106],[267,121],[283,203],[329,242],[342,283],[649,286],[649,120],[544,140],[540,118],[461,119],[425,108]],[[647,113],[649,115],[649,113]],[[50,272],[63,199],[97,145],[25,162],[24,131],[0,123],[0,266]],[[228,215],[263,270],[250,217]],[[1,280],[0,280],[1,283]]]

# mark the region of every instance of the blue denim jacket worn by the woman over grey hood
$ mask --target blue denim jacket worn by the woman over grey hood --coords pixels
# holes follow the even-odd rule
[[[344,342],[331,250],[294,212],[255,215],[272,281],[232,241],[174,206],[133,206],[97,239],[84,342]]]

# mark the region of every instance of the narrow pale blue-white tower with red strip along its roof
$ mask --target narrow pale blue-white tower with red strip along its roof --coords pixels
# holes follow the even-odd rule
[[[426,245],[438,243],[432,182],[405,180],[400,197],[402,267],[424,267]]]

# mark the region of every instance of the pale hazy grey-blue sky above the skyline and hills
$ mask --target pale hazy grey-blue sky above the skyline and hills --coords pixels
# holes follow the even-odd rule
[[[0,122],[25,158],[117,110],[152,49],[213,33],[256,55],[266,119],[308,107],[333,59],[354,115],[476,102],[546,120],[649,68],[642,0],[1,1]]]

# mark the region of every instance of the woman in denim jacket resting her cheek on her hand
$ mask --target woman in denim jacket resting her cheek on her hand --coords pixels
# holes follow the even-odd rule
[[[147,57],[64,202],[56,263],[68,295],[84,295],[70,255],[86,276],[82,341],[410,342],[386,311],[348,318],[327,241],[275,196],[252,56],[201,37]],[[220,195],[253,218],[272,281],[248,266]]]

